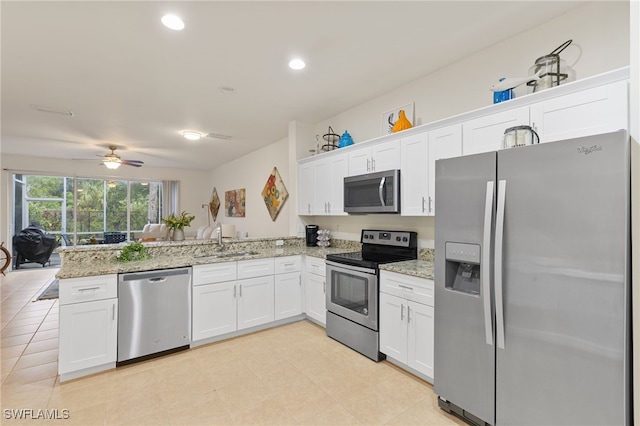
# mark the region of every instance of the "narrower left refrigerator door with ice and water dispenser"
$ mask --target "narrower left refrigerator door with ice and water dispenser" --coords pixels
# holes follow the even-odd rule
[[[434,390],[493,424],[490,236],[496,153],[436,162]]]

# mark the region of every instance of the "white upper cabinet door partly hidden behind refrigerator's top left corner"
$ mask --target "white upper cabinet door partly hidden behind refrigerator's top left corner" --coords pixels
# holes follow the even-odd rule
[[[427,196],[427,212],[429,216],[436,211],[436,161],[442,158],[462,155],[462,125],[442,127],[429,132],[429,194]]]

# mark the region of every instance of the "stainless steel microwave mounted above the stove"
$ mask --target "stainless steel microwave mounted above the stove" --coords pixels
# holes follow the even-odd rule
[[[400,213],[400,170],[344,178],[344,211]]]

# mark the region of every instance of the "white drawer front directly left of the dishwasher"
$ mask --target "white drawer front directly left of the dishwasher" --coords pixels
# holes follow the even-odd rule
[[[68,278],[60,280],[60,305],[118,297],[118,275]]]

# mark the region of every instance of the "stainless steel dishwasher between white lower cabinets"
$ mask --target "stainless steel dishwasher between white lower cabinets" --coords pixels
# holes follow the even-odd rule
[[[191,268],[118,276],[118,364],[189,347]]]

